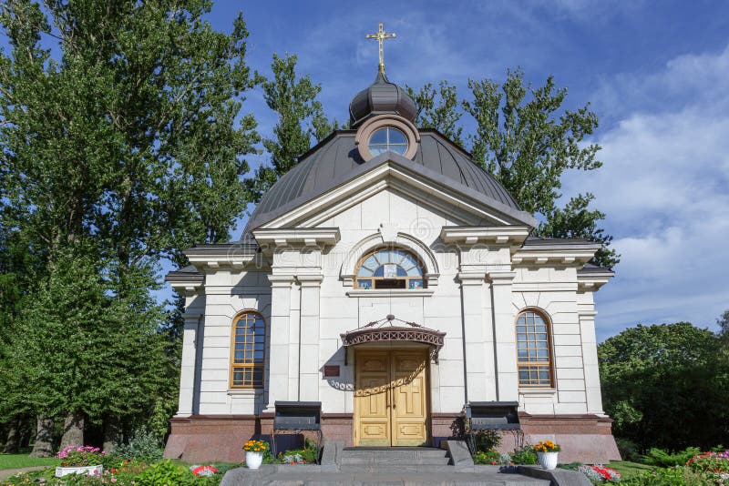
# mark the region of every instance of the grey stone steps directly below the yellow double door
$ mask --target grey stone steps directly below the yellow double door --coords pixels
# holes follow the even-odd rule
[[[340,470],[350,472],[435,472],[453,463],[448,451],[430,447],[347,447],[338,459]]]

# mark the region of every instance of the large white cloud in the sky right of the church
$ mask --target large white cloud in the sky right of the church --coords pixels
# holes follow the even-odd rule
[[[595,194],[622,255],[596,296],[602,338],[639,322],[713,326],[729,309],[728,80],[729,47],[614,80],[625,115],[596,140],[604,166],[565,187]],[[640,103],[649,93],[652,109]]]

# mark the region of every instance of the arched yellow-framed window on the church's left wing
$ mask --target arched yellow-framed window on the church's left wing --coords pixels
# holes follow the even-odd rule
[[[266,325],[258,312],[246,311],[233,320],[231,388],[263,388]]]

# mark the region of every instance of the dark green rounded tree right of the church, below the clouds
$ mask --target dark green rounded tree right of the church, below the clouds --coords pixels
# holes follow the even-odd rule
[[[729,433],[729,361],[708,329],[639,325],[598,346],[614,433],[643,450],[713,447]],[[697,400],[700,398],[700,400]]]

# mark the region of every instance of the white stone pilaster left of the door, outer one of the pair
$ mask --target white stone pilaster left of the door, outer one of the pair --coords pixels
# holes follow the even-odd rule
[[[276,400],[295,400],[289,396],[289,332],[293,275],[269,275],[271,281],[271,323],[269,326],[268,407]]]

